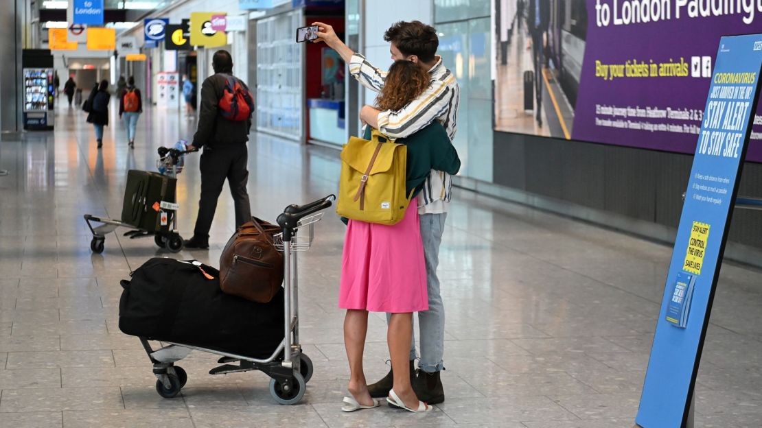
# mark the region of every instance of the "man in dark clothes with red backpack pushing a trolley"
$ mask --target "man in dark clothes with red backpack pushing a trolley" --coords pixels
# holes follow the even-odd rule
[[[235,226],[251,221],[246,191],[248,181],[248,133],[254,97],[246,84],[232,75],[232,56],[218,50],[212,57],[211,75],[201,84],[198,128],[188,149],[203,147],[201,154],[201,198],[193,238],[186,248],[209,248],[209,231],[219,193],[228,180],[235,203]]]

